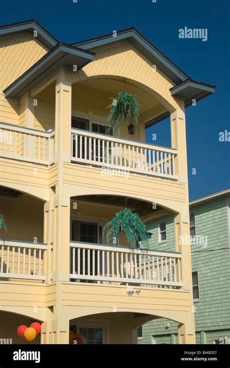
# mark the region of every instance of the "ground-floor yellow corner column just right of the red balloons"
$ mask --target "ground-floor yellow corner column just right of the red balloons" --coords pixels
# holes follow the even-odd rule
[[[42,323],[41,344],[68,344],[69,320],[48,320]]]

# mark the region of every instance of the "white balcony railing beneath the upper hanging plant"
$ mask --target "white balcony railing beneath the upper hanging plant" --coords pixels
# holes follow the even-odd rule
[[[93,166],[177,179],[177,150],[71,129],[71,160]]]

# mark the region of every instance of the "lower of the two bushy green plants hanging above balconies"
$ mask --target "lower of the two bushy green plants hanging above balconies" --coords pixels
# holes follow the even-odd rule
[[[134,213],[127,208],[117,212],[113,220],[105,224],[104,232],[108,244],[114,245],[114,241],[117,243],[119,233],[124,232],[131,246],[134,247],[141,240],[144,247],[148,247],[150,235],[146,231],[145,225],[138,213]]]

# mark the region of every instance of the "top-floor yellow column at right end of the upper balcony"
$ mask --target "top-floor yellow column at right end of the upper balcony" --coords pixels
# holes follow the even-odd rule
[[[184,111],[176,109],[170,115],[171,118],[171,145],[177,149],[178,155],[175,159],[175,171],[181,183],[188,182],[187,174],[187,150]]]

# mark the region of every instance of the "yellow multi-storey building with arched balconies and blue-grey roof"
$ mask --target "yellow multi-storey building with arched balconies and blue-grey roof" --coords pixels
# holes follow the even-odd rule
[[[35,342],[136,344],[142,324],[179,323],[193,344],[185,107],[214,92],[131,28],[76,44],[35,21],[0,27],[0,338],[42,323]],[[182,53],[182,50],[181,50]],[[139,124],[106,130],[110,98],[137,96]],[[145,128],[171,118],[171,147]],[[154,143],[154,142],[153,142]],[[125,207],[173,213],[175,252],[106,245]],[[164,241],[164,227],[159,224]],[[182,245],[181,245],[182,244]],[[3,340],[2,340],[3,341]]]

